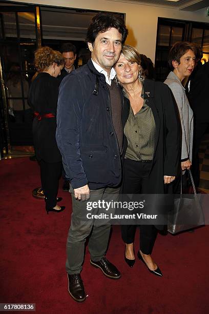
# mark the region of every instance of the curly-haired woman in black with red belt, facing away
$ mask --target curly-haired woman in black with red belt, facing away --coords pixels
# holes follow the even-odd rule
[[[60,212],[58,206],[58,182],[61,175],[61,154],[56,144],[56,110],[59,82],[56,77],[64,67],[61,53],[49,47],[35,52],[35,67],[38,75],[29,90],[29,103],[34,111],[33,141],[36,159],[40,165],[41,185],[44,190],[46,210]]]

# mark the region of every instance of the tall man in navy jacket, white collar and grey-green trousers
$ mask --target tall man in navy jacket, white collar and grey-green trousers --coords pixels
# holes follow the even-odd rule
[[[73,213],[67,239],[66,269],[69,293],[78,302],[86,292],[80,277],[88,235],[90,263],[111,279],[120,272],[106,258],[110,224],[82,222],[87,200],[98,202],[104,195],[117,200],[121,182],[123,127],[128,114],[122,108],[120,88],[113,81],[128,30],[112,13],[99,12],[87,31],[91,60],[68,75],[59,90],[57,145],[66,176],[71,183]],[[91,211],[98,213],[98,208]]]

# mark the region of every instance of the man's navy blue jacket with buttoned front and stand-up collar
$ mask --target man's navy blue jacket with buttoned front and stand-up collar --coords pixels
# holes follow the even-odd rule
[[[120,87],[118,86],[120,89]],[[121,90],[120,90],[121,92]],[[129,108],[122,102],[122,127]],[[57,106],[56,141],[66,178],[73,188],[117,186],[121,158],[105,75],[90,60],[62,80]]]

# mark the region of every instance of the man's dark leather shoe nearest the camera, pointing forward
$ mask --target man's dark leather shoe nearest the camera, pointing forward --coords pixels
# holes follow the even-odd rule
[[[86,291],[82,283],[82,279],[79,273],[68,275],[68,291],[71,297],[77,302],[83,302],[86,300]]]

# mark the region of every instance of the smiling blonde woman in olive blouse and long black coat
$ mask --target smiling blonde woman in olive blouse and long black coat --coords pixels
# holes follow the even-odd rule
[[[163,194],[164,184],[177,174],[179,123],[169,88],[160,82],[143,80],[139,52],[123,46],[115,65],[117,80],[123,87],[124,102],[130,107],[124,127],[127,150],[123,169],[123,194]],[[131,105],[131,106],[130,106]],[[126,245],[125,260],[134,265],[136,226],[121,226]],[[140,225],[138,258],[157,276],[162,273],[151,257],[157,229],[161,226]]]

